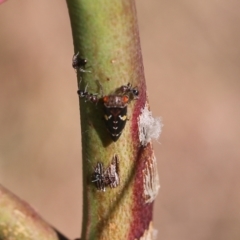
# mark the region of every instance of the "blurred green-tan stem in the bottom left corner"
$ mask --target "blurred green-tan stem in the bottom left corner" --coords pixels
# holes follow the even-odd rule
[[[0,185],[0,240],[67,240],[24,201]]]

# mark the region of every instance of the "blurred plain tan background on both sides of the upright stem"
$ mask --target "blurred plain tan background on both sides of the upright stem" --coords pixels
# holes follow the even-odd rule
[[[137,0],[161,181],[159,240],[240,239],[240,1]],[[77,84],[65,1],[0,5],[0,183],[81,231]]]

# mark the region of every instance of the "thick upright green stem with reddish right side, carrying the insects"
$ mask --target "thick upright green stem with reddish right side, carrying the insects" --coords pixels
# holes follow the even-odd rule
[[[146,84],[133,0],[67,0],[75,53],[88,59],[91,73],[78,74],[79,88],[105,95],[131,83],[140,92],[128,105],[129,121],[117,142],[112,142],[97,106],[80,99],[83,155],[82,240],[140,239],[152,231],[153,203],[144,192],[144,170],[153,158],[152,145],[143,148],[138,137],[138,116],[144,108]],[[91,182],[97,162],[109,166],[119,157],[120,185],[98,191]],[[147,235],[148,236],[148,235]],[[151,238],[148,238],[151,239]]]

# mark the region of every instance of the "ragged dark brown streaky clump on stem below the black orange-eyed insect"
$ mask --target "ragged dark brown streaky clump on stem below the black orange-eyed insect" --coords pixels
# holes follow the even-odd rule
[[[103,163],[97,163],[92,174],[92,182],[95,183],[98,190],[103,192],[105,192],[105,187],[107,186],[115,188],[119,185],[119,160],[116,154],[113,156],[111,164],[105,170]]]

